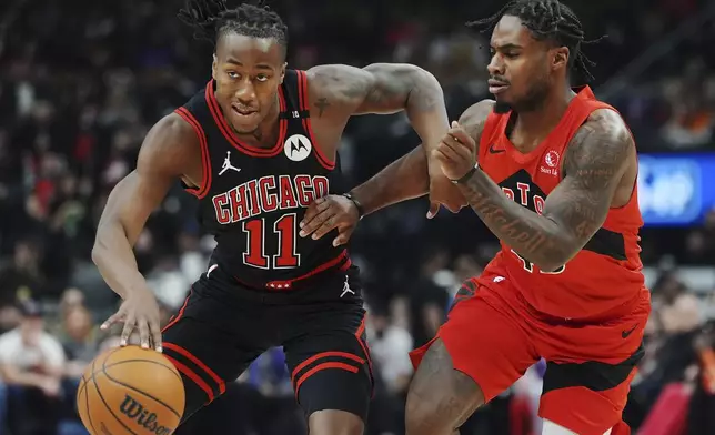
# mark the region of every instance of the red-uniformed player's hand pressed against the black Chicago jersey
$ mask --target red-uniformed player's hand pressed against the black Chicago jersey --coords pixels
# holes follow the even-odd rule
[[[333,246],[348,243],[360,221],[360,212],[355,203],[343,195],[326,195],[319,198],[305,211],[300,223],[301,237],[318,240],[338,229]]]

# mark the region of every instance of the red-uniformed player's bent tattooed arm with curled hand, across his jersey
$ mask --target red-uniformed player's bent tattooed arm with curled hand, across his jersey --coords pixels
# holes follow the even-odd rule
[[[469,128],[465,125],[464,128]],[[572,139],[564,179],[546,198],[540,215],[510,200],[482,171],[473,170],[475,142],[453,125],[436,153],[486,226],[543,271],[571,260],[603,225],[635,146],[623,120],[597,110]],[[459,162],[462,162],[461,164]]]

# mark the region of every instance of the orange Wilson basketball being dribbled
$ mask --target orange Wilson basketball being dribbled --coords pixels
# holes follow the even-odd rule
[[[173,364],[139,346],[111,348],[92,361],[77,407],[92,435],[168,435],[179,426],[184,391]]]

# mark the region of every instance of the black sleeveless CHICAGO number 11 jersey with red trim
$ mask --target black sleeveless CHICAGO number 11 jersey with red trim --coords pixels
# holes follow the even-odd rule
[[[272,291],[346,269],[348,253],[333,247],[333,234],[318,241],[298,235],[314,199],[343,192],[340,168],[313,139],[305,72],[285,72],[279,89],[280,133],[270,148],[241,142],[214,90],[212,80],[175,111],[202,146],[203,180],[188,191],[199,198],[199,220],[218,242],[211,267],[221,267],[244,286]]]

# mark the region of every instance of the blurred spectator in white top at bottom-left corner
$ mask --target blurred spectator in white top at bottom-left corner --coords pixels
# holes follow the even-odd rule
[[[0,335],[0,375],[8,386],[13,435],[57,431],[64,371],[62,345],[44,331],[39,305],[21,305],[20,326]]]

